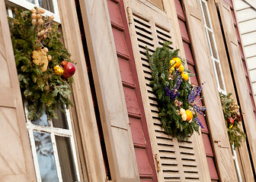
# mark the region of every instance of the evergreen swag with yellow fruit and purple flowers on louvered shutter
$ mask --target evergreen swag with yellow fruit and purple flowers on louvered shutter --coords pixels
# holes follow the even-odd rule
[[[155,49],[147,58],[152,71],[153,93],[158,102],[158,117],[162,122],[165,133],[176,137],[178,140],[187,140],[194,131],[199,133],[203,128],[198,114],[203,115],[206,110],[199,106],[202,86],[192,86],[188,82],[190,71],[184,68],[184,63],[178,58],[178,49],[171,50],[166,42],[162,47]]]

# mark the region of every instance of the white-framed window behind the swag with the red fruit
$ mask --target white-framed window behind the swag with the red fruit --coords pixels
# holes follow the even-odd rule
[[[32,9],[35,5],[47,8],[47,15],[59,16],[56,0],[6,0],[6,14],[14,16],[14,8]],[[29,4],[32,4],[29,6]],[[25,105],[25,104],[24,104]],[[27,120],[27,132],[34,159],[34,168],[38,182],[81,181],[78,158],[76,155],[75,136],[69,110],[66,113],[56,111],[58,119],[48,121],[44,114],[37,121]],[[27,116],[27,109],[25,107]]]

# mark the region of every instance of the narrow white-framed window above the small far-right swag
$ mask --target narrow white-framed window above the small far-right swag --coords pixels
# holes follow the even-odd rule
[[[218,49],[214,38],[213,27],[210,20],[210,14],[206,0],[200,0],[201,10],[203,12],[203,23],[206,30],[207,41],[210,47],[210,54],[213,61],[214,73],[218,84],[219,92],[226,94],[226,87],[223,79],[222,69],[220,66]]]

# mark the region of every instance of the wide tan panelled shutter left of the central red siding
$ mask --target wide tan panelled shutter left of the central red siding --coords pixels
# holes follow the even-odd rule
[[[107,1],[79,0],[111,180],[139,181]]]

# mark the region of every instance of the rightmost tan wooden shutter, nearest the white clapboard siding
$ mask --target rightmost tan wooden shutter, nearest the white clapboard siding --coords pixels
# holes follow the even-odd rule
[[[238,40],[235,33],[235,27],[232,20],[232,14],[229,5],[222,1],[218,1],[219,14],[222,20],[222,27],[225,33],[226,45],[229,50],[229,57],[232,65],[232,71],[235,77],[235,85],[238,91],[238,97],[242,108],[243,118],[245,120],[245,129],[249,146],[251,149],[254,168],[256,165],[256,124],[254,122],[254,111],[251,105],[251,99],[248,91],[248,85],[245,77],[245,71],[242,65],[242,59],[239,52]]]

